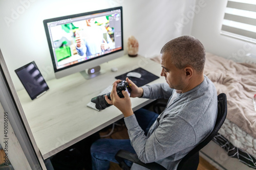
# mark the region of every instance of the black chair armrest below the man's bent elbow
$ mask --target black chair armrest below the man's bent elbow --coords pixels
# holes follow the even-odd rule
[[[121,164],[121,166],[123,164],[125,164],[123,160],[126,159],[126,160],[129,160],[131,162],[137,163],[137,164],[139,164],[141,166],[144,166],[144,167],[146,167],[148,169],[152,169],[152,170],[166,170],[165,167],[163,167],[162,165],[160,165],[160,164],[158,164],[156,162],[143,163],[143,162],[141,162],[139,160],[139,158],[138,158],[138,156],[136,154],[133,154],[133,153],[131,153],[129,151],[125,151],[125,150],[119,150],[117,152],[117,154],[115,155],[115,158]],[[127,167],[122,167],[122,168],[123,169],[130,169],[130,167],[128,167],[128,166]]]

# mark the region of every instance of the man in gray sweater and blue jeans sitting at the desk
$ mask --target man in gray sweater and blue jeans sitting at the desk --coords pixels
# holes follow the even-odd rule
[[[176,169],[180,160],[214,129],[217,92],[214,84],[203,75],[205,50],[202,43],[195,37],[181,36],[167,42],[160,57],[161,76],[166,83],[137,87],[131,80],[126,78],[126,81],[132,89],[132,98],[169,98],[165,110],[158,117],[145,110],[133,113],[129,94],[123,91],[122,99],[117,95],[116,81],[112,100],[105,100],[123,113],[131,141],[96,141],[91,148],[96,169],[107,169],[108,161],[116,162],[112,157],[119,149],[135,152],[142,162],[157,162],[167,169]],[[148,125],[142,128],[143,118]],[[133,164],[132,169],[144,168]]]

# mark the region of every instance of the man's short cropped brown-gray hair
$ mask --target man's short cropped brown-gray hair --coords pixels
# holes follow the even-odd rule
[[[168,53],[172,64],[182,69],[193,67],[197,72],[203,72],[205,64],[205,49],[203,44],[193,36],[181,36],[167,42],[160,52]]]

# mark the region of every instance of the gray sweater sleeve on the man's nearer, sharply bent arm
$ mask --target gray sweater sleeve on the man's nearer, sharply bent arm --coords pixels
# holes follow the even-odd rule
[[[195,145],[193,127],[178,116],[164,118],[150,137],[144,135],[135,115],[125,117],[124,120],[131,144],[144,163],[161,160]]]

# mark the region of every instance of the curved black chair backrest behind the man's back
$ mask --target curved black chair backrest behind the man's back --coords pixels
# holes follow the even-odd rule
[[[182,160],[180,161],[177,169],[182,169],[181,166],[193,155],[197,154],[202,148],[208,144],[211,139],[215,137],[217,132],[220,130],[221,126],[224,123],[227,115],[227,97],[225,93],[221,93],[218,95],[218,114],[215,123],[214,130],[208,135],[206,139],[204,139],[201,143],[199,143],[193,150],[191,150]]]

